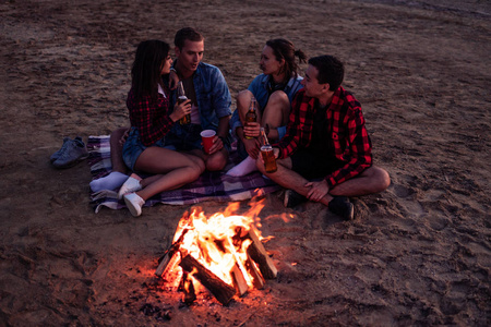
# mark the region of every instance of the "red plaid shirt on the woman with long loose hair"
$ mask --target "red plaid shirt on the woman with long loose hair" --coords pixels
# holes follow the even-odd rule
[[[134,97],[133,88],[128,93],[127,107],[130,111],[131,125],[136,128],[140,138],[145,146],[151,146],[172,128],[169,118],[169,97],[167,87],[164,88],[167,97],[158,94],[157,104],[152,101],[149,95],[142,98]]]

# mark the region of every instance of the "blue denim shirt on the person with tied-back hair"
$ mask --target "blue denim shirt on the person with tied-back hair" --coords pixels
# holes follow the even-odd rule
[[[297,76],[291,77],[290,81],[288,81],[288,84],[285,86],[284,92],[288,96],[288,99],[291,101],[294,100],[295,95],[297,92],[302,88],[302,82],[303,77]],[[264,110],[264,108],[267,105],[267,100],[270,99],[270,93],[267,92],[267,84],[270,82],[270,75],[261,74],[255,76],[255,78],[249,84],[248,89],[254,95],[258,104],[261,107],[261,110]],[[230,128],[232,133],[235,133],[237,128],[242,126],[242,123],[240,122],[239,118],[239,111],[235,110],[232,118],[230,120]],[[279,138],[282,138],[285,135],[286,126],[279,126],[278,128],[278,134]]]

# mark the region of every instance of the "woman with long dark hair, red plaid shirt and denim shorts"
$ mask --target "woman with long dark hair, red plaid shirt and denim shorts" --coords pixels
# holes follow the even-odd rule
[[[203,160],[164,147],[164,136],[175,122],[190,112],[190,100],[176,104],[169,114],[169,88],[161,75],[169,74],[172,59],[169,45],[160,40],[142,41],[131,70],[127,107],[131,129],[122,149],[124,164],[132,171],[153,174],[141,179],[133,173],[121,186],[118,197],[135,217],[151,196],[195,181],[204,171]]]

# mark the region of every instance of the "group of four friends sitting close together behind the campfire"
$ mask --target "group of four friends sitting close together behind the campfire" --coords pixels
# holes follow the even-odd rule
[[[258,75],[248,89],[231,97],[218,68],[202,62],[204,37],[185,27],[175,37],[176,60],[161,40],[142,41],[131,69],[127,107],[131,128],[110,137],[112,172],[91,182],[94,192],[119,189],[133,216],[145,201],[163,191],[195,181],[205,170],[223,170],[230,150],[230,130],[242,162],[227,173],[235,177],[260,170],[286,189],[285,206],[320,202],[344,219],[354,218],[348,197],[384,191],[388,173],[372,165],[372,145],[361,106],[343,88],[344,65],[333,56],[308,60],[304,78],[299,62],[307,56],[283,38],[266,43]],[[188,100],[177,101],[181,81]],[[255,123],[246,122],[256,100]],[[179,120],[190,114],[191,123]],[[266,172],[260,156],[265,129],[277,158],[277,170]],[[208,153],[201,131],[214,130]],[[131,171],[129,177],[127,173]],[[135,172],[144,172],[140,178]]]

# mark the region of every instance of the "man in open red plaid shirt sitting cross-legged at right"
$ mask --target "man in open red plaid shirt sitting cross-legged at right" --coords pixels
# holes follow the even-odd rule
[[[360,104],[340,84],[343,63],[332,56],[309,60],[294,101],[287,132],[274,153],[277,171],[258,168],[285,192],[285,206],[310,199],[354,219],[348,196],[379,193],[388,187],[388,173],[372,165],[372,144]]]

